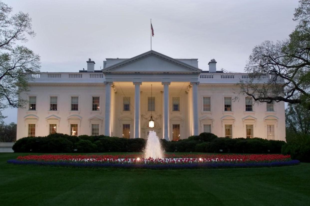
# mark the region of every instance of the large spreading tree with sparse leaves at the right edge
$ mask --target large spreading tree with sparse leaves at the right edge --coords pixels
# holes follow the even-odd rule
[[[253,48],[245,67],[249,79],[238,85],[255,101],[284,101],[310,110],[310,0],[299,1],[293,20],[298,25],[287,40]]]

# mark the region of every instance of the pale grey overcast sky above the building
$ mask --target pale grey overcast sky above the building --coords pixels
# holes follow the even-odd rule
[[[35,38],[26,46],[41,56],[42,72],[77,72],[105,58],[131,58],[152,49],[172,58],[198,58],[208,70],[243,72],[255,45],[283,40],[294,30],[297,0],[91,1],[3,0],[29,13]],[[6,123],[16,122],[7,109]]]

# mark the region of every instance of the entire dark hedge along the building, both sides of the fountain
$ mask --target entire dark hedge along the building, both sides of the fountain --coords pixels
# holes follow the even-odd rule
[[[142,152],[144,139],[125,139],[104,135],[78,137],[55,133],[47,137],[24,137],[13,145],[14,152],[33,153],[90,153],[90,152]],[[208,153],[281,153],[284,141],[261,138],[224,138],[203,132],[179,141],[161,139],[166,152]]]

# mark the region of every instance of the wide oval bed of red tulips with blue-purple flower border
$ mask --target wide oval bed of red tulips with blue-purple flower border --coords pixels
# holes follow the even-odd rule
[[[165,158],[139,158],[129,155],[27,155],[7,161],[15,164],[88,166],[149,169],[271,167],[299,164],[281,154],[166,154]]]

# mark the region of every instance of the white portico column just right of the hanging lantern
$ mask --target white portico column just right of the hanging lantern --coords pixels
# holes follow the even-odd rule
[[[162,82],[164,85],[164,135],[163,138],[167,141],[169,139],[169,85],[171,82]]]

